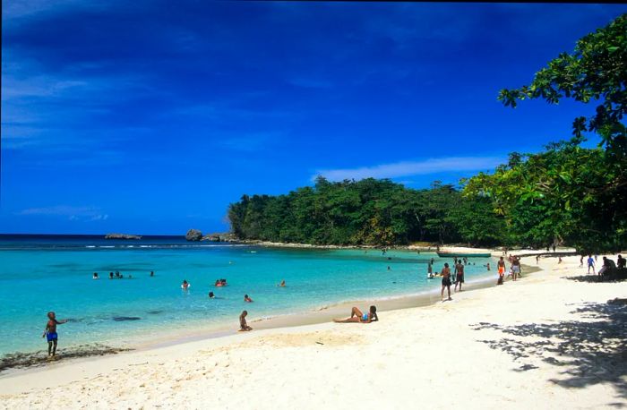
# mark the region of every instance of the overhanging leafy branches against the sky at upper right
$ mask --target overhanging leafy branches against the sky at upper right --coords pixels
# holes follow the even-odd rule
[[[583,132],[597,132],[606,148],[625,154],[627,132],[627,14],[580,38],[571,54],[562,53],[536,73],[529,85],[501,90],[498,99],[516,107],[517,100],[544,98],[557,104],[562,98],[597,102],[595,115],[575,118],[576,141]]]

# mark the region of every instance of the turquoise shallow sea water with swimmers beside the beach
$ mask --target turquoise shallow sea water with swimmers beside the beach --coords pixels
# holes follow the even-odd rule
[[[0,355],[46,347],[41,334],[48,311],[70,320],[58,327],[60,346],[127,346],[172,330],[236,329],[244,309],[254,320],[437,289],[439,279],[426,279],[431,258],[434,270],[451,263],[434,253],[390,251],[382,256],[374,250],[187,243],[178,237],[117,241],[0,235]],[[491,276],[483,267],[491,260],[471,261],[476,265],[467,266],[467,281]],[[108,272],[116,270],[125,278],[108,279]],[[155,277],[150,278],[150,270]],[[99,280],[91,278],[94,271]],[[229,285],[214,287],[218,278],[227,278]],[[192,284],[189,291],[181,289],[183,279]],[[281,279],[287,287],[277,286]],[[217,299],[208,298],[210,290]],[[244,303],[245,294],[254,303]]]

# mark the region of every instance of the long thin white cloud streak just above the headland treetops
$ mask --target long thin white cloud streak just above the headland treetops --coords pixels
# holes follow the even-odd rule
[[[398,178],[410,175],[430,175],[440,172],[477,171],[491,169],[501,164],[499,157],[447,157],[422,161],[401,161],[371,167],[318,170],[312,179],[322,175],[330,181],[364,178]]]

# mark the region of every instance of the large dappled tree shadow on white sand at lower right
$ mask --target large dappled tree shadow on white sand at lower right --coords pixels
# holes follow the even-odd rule
[[[537,369],[532,359],[563,367],[563,378],[553,379],[564,388],[582,389],[611,383],[619,397],[627,398],[627,305],[615,299],[608,303],[584,303],[574,312],[583,320],[502,326],[481,322],[473,329],[494,329],[512,337],[478,340],[502,350],[520,363],[516,372]],[[612,406],[624,406],[614,403]]]

